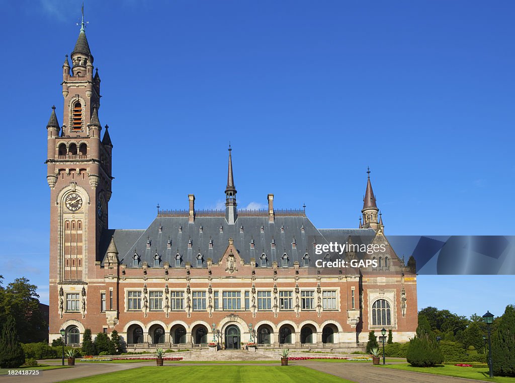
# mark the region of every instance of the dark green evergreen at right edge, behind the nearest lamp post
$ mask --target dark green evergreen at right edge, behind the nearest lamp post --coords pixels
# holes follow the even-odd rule
[[[492,334],[494,375],[515,377],[515,306],[508,305]]]

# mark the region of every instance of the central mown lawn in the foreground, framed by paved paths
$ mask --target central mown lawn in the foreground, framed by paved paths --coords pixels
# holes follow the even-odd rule
[[[127,383],[128,381],[147,381],[152,383],[197,383],[215,381],[217,383],[353,383],[350,380],[300,366],[170,366],[140,367],[132,370],[112,372],[87,378],[66,380],[68,383]],[[62,382],[65,383],[65,382]]]

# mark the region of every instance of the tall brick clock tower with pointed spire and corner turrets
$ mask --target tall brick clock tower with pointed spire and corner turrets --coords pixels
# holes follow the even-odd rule
[[[88,281],[100,261],[98,246],[108,227],[113,145],[98,119],[100,77],[93,73],[93,55],[84,30],[84,16],[75,48],[62,66],[63,125],[56,107],[47,124],[47,176],[50,187],[50,301],[59,302],[60,317],[87,310]],[[68,299],[64,292],[77,291]],[[77,299],[75,299],[77,298]],[[50,315],[52,318],[52,315]],[[52,324],[51,324],[52,325]],[[52,330],[51,330],[52,331]]]

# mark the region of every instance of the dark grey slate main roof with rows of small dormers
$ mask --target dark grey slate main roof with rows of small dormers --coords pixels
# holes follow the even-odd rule
[[[302,264],[302,257],[306,253],[310,260],[322,258],[324,255],[315,254],[313,242],[327,243],[325,235],[337,236],[340,242],[347,240],[351,235],[354,243],[363,243],[370,242],[375,236],[375,231],[318,230],[303,216],[276,217],[273,223],[269,222],[268,217],[238,217],[234,225],[228,225],[225,217],[197,217],[194,223],[188,223],[187,217],[158,217],[146,230],[105,230],[102,235],[100,257],[105,256],[111,236],[114,236],[118,258],[128,267],[132,267],[134,252],[139,256],[140,265],[147,262],[150,267],[156,254],[160,256],[161,264],[168,262],[170,267],[174,267],[177,254],[181,256],[182,265],[190,262],[192,267],[195,267],[196,258],[201,254],[205,267],[205,260],[208,258],[218,262],[227,249],[229,238],[232,238],[239,256],[245,263],[249,263],[250,258],[257,261],[265,254],[269,264],[277,261],[280,265],[281,257],[287,254],[288,263],[293,265],[295,261]],[[362,239],[356,240],[354,237]],[[254,248],[250,245],[252,240]],[[170,246],[168,241],[171,243]],[[191,247],[188,245],[190,241]],[[294,241],[295,247],[292,244]]]

